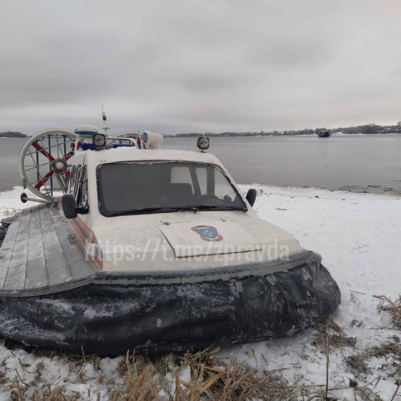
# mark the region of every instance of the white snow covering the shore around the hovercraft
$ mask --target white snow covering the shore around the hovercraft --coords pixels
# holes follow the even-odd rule
[[[344,347],[330,352],[329,384],[345,382],[348,385],[349,378],[360,381],[347,367],[346,357],[396,341],[400,336],[399,331],[390,328],[388,315],[377,312],[378,301],[372,296],[384,294],[395,298],[401,292],[401,199],[394,195],[318,188],[241,185],[244,192],[250,187],[255,187],[259,193],[254,206],[258,216],[294,234],[304,248],[320,253],[323,264],[337,281],[342,302],[333,319],[357,341],[355,349]],[[16,187],[0,194],[0,216],[34,205],[22,204],[21,192],[22,188]],[[305,384],[324,384],[326,356],[312,344],[316,334],[317,330],[310,328],[288,338],[226,348],[220,354],[237,355],[252,366],[283,369],[280,373],[291,383],[299,380]],[[381,377],[374,391],[382,399],[389,400],[396,386],[395,378],[388,377],[383,368],[383,364],[389,363],[388,358],[369,359],[366,377],[368,381]],[[22,376],[29,376],[19,360],[27,364],[27,370],[35,370],[38,363],[43,363],[41,369],[50,383],[58,380],[59,384],[69,386],[66,378],[73,373],[60,356],[44,358],[22,349],[11,351],[5,346],[0,346],[0,378],[6,375],[13,379],[15,369]],[[121,381],[117,374],[120,360],[103,358],[96,372],[94,366],[88,364],[87,375],[102,375],[104,380],[100,383],[97,378],[88,379],[78,387],[74,384],[74,389],[84,399],[96,399],[97,392],[102,400],[108,399],[104,383],[113,377]],[[334,395],[355,399],[349,388],[337,390]],[[11,399],[7,389],[3,392],[0,389],[0,400],[3,399]],[[393,399],[401,400],[401,395]]]

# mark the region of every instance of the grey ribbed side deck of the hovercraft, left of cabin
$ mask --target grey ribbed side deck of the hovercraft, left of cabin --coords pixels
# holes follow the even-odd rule
[[[0,296],[31,296],[94,282],[96,266],[56,205],[24,209],[0,248]]]

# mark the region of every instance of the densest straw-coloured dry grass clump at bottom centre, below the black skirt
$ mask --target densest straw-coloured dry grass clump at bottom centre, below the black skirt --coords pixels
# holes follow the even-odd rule
[[[239,363],[234,357],[224,361],[216,356],[216,352],[169,355],[154,363],[144,357],[129,357],[127,353],[124,386],[115,391],[112,400],[158,400],[161,399],[160,391],[174,401],[273,400],[289,399],[294,392],[278,376]],[[188,366],[191,379],[185,381],[180,377],[180,371]],[[171,372],[171,379],[166,379],[164,373],[167,371]]]

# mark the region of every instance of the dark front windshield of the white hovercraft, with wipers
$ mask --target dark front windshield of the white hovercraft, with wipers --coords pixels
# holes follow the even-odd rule
[[[104,216],[177,210],[242,210],[241,196],[219,167],[189,162],[108,163],[97,168]]]

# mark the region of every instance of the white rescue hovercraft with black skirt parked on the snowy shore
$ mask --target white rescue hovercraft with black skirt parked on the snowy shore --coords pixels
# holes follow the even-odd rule
[[[107,128],[107,127],[106,127]],[[107,129],[106,129],[107,133]],[[0,248],[0,336],[100,355],[194,351],[288,336],[332,314],[321,257],[253,211],[217,157],[96,127],[32,136],[38,200]]]

